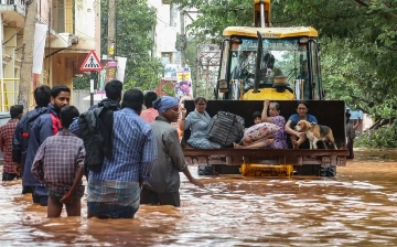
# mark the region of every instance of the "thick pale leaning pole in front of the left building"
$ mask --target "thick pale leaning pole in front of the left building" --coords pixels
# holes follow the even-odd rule
[[[33,69],[33,49],[35,17],[37,14],[37,0],[26,1],[26,15],[24,20],[24,31],[22,41],[22,62],[19,83],[18,104],[23,105],[23,109],[29,110],[29,95],[32,83]]]

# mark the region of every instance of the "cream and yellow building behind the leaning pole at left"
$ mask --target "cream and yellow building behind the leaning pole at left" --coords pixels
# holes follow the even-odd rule
[[[3,78],[19,78],[22,62],[24,0],[1,1],[0,41],[3,44]],[[100,1],[39,0],[37,22],[49,25],[43,71],[39,85],[66,85],[73,88],[73,76],[82,74],[79,66],[89,51],[100,56]],[[33,41],[32,41],[33,42]],[[7,82],[6,107],[17,104],[19,82]],[[33,108],[33,84],[29,94]],[[73,99],[72,99],[73,100]],[[0,108],[4,107],[0,101]]]

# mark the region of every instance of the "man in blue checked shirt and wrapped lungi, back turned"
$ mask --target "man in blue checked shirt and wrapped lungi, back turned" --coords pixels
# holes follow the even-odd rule
[[[88,217],[132,218],[139,208],[140,187],[157,160],[153,130],[139,115],[143,94],[129,89],[121,110],[114,111],[112,159],[105,157],[100,171],[89,171]]]

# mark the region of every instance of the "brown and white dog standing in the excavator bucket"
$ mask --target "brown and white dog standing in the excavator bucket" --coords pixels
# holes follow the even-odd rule
[[[316,142],[320,140],[323,142],[325,149],[328,149],[325,143],[328,141],[332,142],[334,148],[337,149],[330,127],[300,120],[297,124],[296,130],[299,132],[305,132],[310,142],[310,149],[318,149]]]

